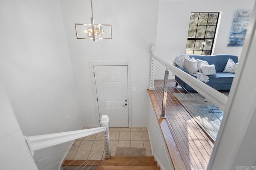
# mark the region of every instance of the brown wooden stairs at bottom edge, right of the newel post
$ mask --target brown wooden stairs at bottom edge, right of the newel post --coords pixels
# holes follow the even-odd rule
[[[111,156],[97,170],[160,170],[153,156]]]

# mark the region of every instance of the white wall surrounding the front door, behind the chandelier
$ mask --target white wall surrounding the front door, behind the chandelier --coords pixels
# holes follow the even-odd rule
[[[64,25],[78,90],[83,123],[95,126],[96,117],[89,62],[130,61],[132,126],[146,125],[150,82],[150,45],[156,43],[158,0],[93,0],[96,23],[112,24],[113,38],[93,42],[76,39],[75,23],[90,23],[90,0],[61,0]],[[130,88],[130,87],[129,87]]]

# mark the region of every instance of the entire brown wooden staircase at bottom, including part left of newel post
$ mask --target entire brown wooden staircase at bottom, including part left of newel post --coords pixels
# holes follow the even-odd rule
[[[105,160],[88,160],[88,162],[65,160],[62,165],[68,165],[64,170],[94,169],[94,166],[98,166],[97,170],[160,170],[153,156],[111,156]]]

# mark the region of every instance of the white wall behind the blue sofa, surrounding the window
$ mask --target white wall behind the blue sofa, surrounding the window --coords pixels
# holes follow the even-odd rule
[[[156,55],[172,63],[177,55],[185,53],[191,12],[221,12],[213,54],[240,57],[242,47],[227,47],[230,30],[235,11],[252,10],[253,4],[254,0],[160,0]]]

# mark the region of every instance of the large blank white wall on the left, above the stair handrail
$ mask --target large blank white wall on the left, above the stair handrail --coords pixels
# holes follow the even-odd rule
[[[80,129],[59,0],[2,0],[0,21],[0,79],[24,135]]]

